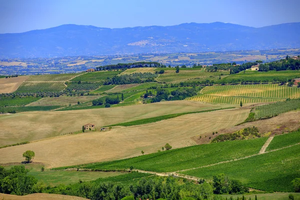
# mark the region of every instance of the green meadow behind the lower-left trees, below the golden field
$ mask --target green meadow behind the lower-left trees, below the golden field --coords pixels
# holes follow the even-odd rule
[[[44,182],[46,185],[55,186],[58,184],[74,184],[80,180],[91,181],[96,180],[109,180],[110,176],[122,176],[125,172],[111,171],[111,172],[100,172],[100,171],[62,171],[62,170],[44,170],[41,171],[42,164],[23,164],[26,169],[29,170],[28,174],[34,176],[38,181]],[[4,166],[4,168],[10,168],[13,165]],[[112,178],[110,178],[112,179]]]

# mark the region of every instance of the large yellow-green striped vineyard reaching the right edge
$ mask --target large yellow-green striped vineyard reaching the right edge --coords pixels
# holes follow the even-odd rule
[[[300,88],[278,84],[215,85],[204,87],[201,93],[188,100],[227,104],[284,101],[299,98]]]

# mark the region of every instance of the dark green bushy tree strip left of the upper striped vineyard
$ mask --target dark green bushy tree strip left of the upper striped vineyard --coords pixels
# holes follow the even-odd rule
[[[131,84],[141,82],[153,82],[157,74],[150,72],[137,72],[131,74],[124,74],[119,76],[108,77],[103,84]]]

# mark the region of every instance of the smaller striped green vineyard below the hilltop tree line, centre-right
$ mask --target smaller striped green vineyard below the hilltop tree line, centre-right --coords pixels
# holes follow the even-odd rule
[[[229,74],[229,71],[205,71],[201,70],[180,70],[179,73],[175,71],[165,71],[165,73],[160,74],[156,80],[159,82],[175,82],[181,80],[188,80],[194,78],[202,78],[202,77],[211,77],[211,76],[219,76]]]

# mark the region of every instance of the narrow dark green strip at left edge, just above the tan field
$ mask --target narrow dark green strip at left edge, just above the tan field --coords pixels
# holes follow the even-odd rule
[[[40,105],[40,106],[7,106],[7,107],[0,107],[0,111],[7,113],[12,112],[27,112],[27,111],[48,111],[52,109],[59,108],[59,105]]]

